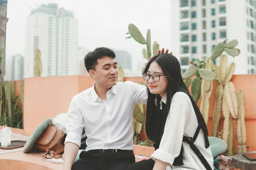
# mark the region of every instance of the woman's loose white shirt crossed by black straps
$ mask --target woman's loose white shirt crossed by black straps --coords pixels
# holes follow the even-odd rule
[[[166,104],[166,94],[162,102]],[[184,92],[176,92],[172,98],[170,111],[165,122],[164,133],[160,142],[159,149],[155,150],[151,158],[169,163],[166,170],[172,169],[195,169],[203,170],[204,165],[197,157],[196,153],[190,148],[189,144],[182,142],[183,135],[193,137],[198,126],[196,113],[192,106],[189,96]],[[210,147],[205,148],[205,140],[202,129],[200,130],[196,141],[196,147],[203,154],[204,158],[213,169],[213,155]],[[176,157],[179,156],[181,145],[183,146],[183,163],[182,166],[171,166]]]

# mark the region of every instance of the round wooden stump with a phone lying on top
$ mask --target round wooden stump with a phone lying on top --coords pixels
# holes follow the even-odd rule
[[[256,153],[256,151],[246,153]],[[256,161],[249,161],[241,153],[232,157],[231,166],[241,170],[256,170]]]

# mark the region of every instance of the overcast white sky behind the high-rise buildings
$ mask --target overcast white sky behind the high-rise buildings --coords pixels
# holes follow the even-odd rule
[[[25,53],[26,18],[30,9],[48,3],[74,11],[79,23],[80,47],[126,50],[135,64],[137,59],[141,60],[141,51],[146,46],[132,38],[125,39],[129,23],[135,24],[144,37],[150,29],[152,43],[158,41],[160,48],[170,46],[170,0],[8,0],[5,79],[10,76],[11,56]]]

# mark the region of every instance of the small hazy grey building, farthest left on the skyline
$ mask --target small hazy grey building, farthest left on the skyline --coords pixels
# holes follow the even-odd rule
[[[24,58],[21,54],[16,54],[11,58],[11,80],[22,80],[24,75]]]

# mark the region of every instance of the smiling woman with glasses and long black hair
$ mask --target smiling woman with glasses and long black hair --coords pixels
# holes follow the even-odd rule
[[[156,55],[143,78],[148,92],[145,129],[155,151],[151,159],[134,163],[128,170],[212,170],[208,130],[182,80],[177,58]]]

